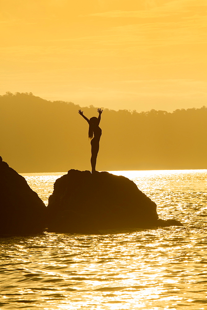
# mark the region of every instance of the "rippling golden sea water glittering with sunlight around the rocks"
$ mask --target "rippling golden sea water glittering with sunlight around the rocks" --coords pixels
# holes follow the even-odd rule
[[[1,237],[0,309],[207,309],[207,170],[112,173],[184,227]],[[63,174],[24,177],[47,204]]]

